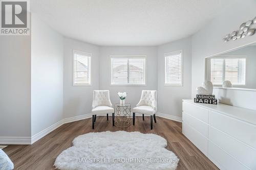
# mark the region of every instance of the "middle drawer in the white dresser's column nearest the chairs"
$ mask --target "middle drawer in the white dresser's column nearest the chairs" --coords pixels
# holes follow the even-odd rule
[[[201,133],[204,137],[206,138],[208,137],[208,125],[202,122],[201,120],[187,114],[186,112],[182,112],[182,122],[193,127],[196,131]]]

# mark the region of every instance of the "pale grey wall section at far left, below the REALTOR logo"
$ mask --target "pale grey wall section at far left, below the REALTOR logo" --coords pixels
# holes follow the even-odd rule
[[[0,36],[0,142],[30,137],[30,36]]]

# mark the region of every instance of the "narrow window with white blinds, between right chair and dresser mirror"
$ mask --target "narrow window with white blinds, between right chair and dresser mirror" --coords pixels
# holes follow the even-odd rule
[[[182,86],[182,51],[171,52],[165,56],[165,85]]]

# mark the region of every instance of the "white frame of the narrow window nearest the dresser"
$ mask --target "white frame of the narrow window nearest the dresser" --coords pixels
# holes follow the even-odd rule
[[[177,53],[181,53],[181,84],[179,85],[175,85],[175,84],[170,84],[170,83],[166,83],[166,69],[167,69],[167,65],[165,63],[166,61],[166,57],[171,56],[171,55],[175,55]],[[165,53],[164,54],[164,86],[176,86],[176,87],[182,87],[183,86],[183,50],[178,50],[178,51],[173,51],[173,52],[169,52],[169,53]]]

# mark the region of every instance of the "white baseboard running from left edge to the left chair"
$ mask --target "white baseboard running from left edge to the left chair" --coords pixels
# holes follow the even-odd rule
[[[54,131],[55,129],[57,129],[63,124],[76,122],[78,120],[90,118],[91,116],[92,114],[83,114],[79,116],[64,118],[59,122],[53,124],[52,126],[38,132],[32,137],[5,137],[5,136],[1,137],[0,136],[0,144],[33,144],[34,142],[46,136],[47,134],[51,133],[52,131]]]

